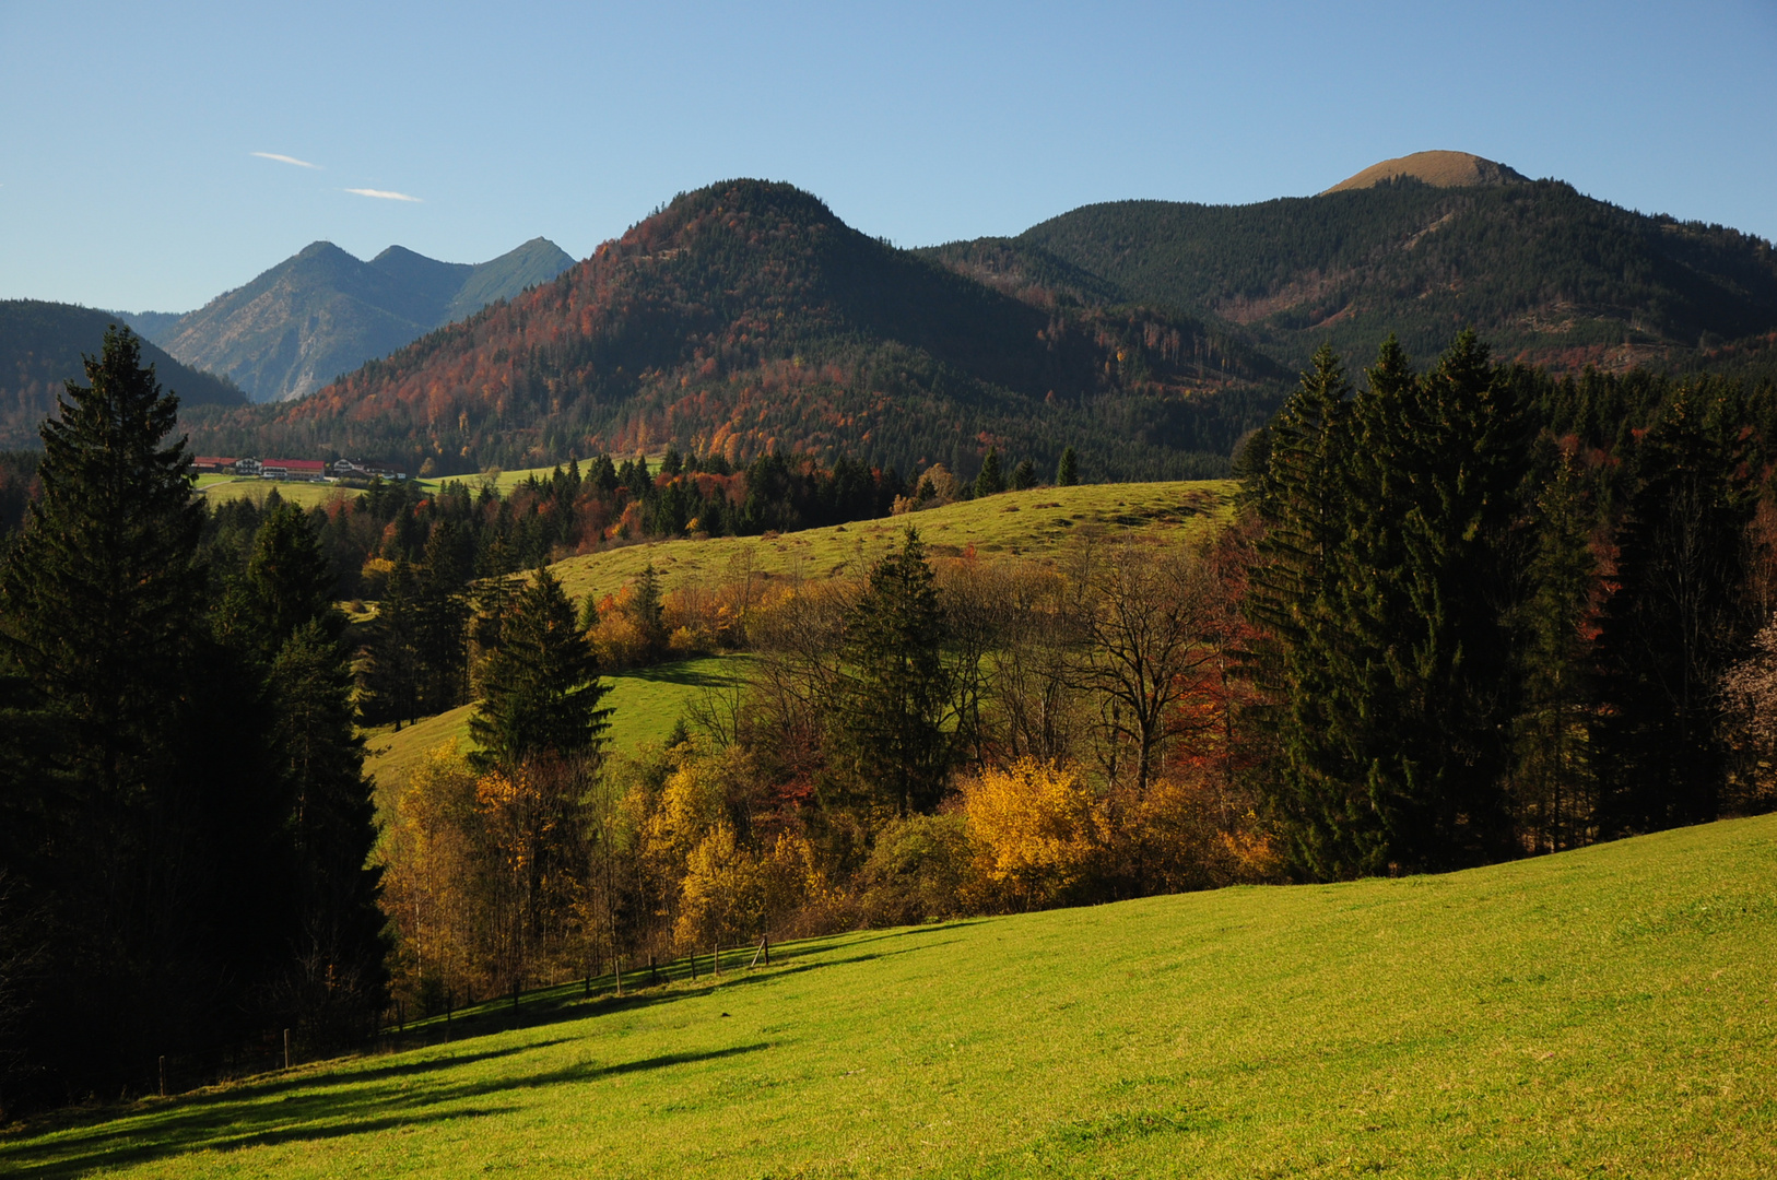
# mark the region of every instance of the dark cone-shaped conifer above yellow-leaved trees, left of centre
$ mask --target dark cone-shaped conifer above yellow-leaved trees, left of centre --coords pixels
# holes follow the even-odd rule
[[[554,574],[538,569],[514,595],[487,663],[482,707],[469,722],[482,746],[476,762],[514,769],[544,753],[595,753],[610,725],[599,704],[606,691],[574,604]]]

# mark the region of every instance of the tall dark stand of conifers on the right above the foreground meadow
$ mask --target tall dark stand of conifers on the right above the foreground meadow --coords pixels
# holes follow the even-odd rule
[[[1452,869],[1773,800],[1777,393],[1322,348],[1249,455],[1255,766],[1295,873]],[[1754,659],[1754,665],[1743,661]]]

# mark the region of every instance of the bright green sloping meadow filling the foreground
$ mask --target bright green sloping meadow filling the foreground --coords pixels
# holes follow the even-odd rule
[[[810,940],[14,1128],[0,1171],[1770,1176],[1773,883],[1761,817]]]

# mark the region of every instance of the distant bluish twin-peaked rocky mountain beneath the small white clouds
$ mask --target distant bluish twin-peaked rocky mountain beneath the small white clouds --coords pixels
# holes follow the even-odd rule
[[[366,263],[316,242],[171,323],[165,313],[126,318],[187,364],[226,373],[256,402],[275,402],[300,398],[572,263],[546,238],[474,267],[400,245]]]

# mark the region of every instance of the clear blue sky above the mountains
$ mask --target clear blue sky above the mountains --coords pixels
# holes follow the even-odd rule
[[[1777,4],[0,0],[0,299],[185,311],[318,238],[583,258],[730,176],[924,245],[1429,148],[1777,236]]]

